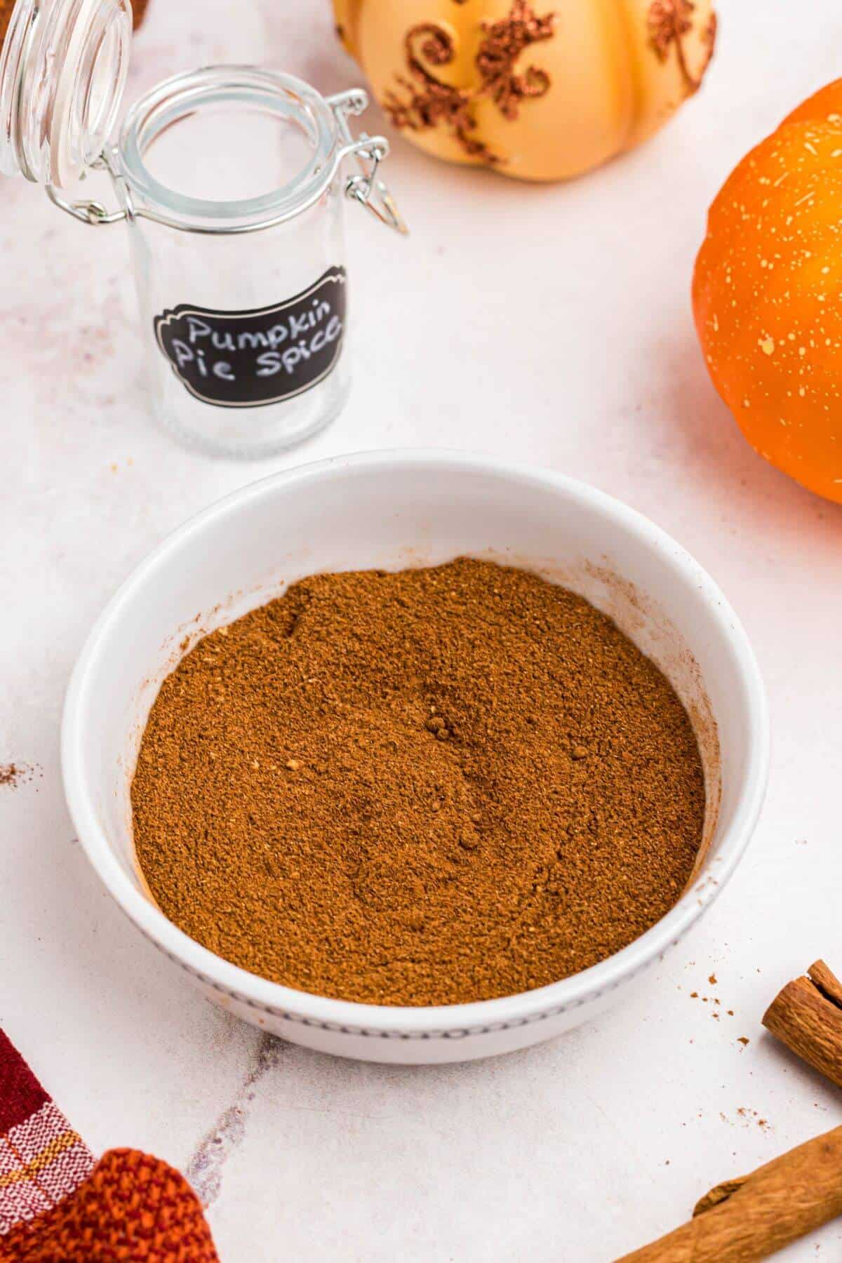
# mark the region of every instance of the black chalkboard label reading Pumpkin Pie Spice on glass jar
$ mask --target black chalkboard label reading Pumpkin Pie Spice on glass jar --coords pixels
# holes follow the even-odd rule
[[[158,345],[192,395],[220,408],[292,399],[336,368],[345,335],[345,268],[274,307],[220,312],[182,303],[155,317]]]

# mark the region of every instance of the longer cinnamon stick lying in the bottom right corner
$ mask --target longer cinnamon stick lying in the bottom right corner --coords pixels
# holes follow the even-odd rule
[[[756,1263],[842,1214],[842,1127],[717,1185],[693,1219],[616,1263]]]

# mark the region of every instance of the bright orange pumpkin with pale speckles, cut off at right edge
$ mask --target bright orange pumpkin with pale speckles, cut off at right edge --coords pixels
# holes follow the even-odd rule
[[[842,80],[726,182],[693,311],[713,384],[751,446],[842,503]]]

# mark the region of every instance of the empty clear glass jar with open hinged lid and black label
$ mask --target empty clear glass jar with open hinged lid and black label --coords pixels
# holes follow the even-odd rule
[[[406,231],[377,174],[388,141],[351,134],[361,90],[323,97],[276,71],[217,66],[153,88],[112,145],[130,40],[129,0],[18,0],[0,171],[85,224],[126,224],[159,419],[213,453],[269,455],[347,398],[343,205]],[[59,192],[95,169],[111,177],[112,211]]]

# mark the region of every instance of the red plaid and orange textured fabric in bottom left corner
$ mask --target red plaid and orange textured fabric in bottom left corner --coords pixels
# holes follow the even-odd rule
[[[0,1263],[218,1263],[184,1177],[136,1149],[95,1162],[3,1031]]]

